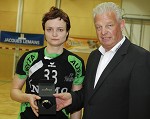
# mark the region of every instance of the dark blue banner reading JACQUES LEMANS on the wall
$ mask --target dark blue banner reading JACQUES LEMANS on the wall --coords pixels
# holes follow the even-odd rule
[[[0,42],[43,46],[44,35],[0,31]]]

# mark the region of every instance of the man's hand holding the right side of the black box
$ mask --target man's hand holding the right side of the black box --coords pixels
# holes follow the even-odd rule
[[[59,93],[53,95],[56,98],[57,111],[60,111],[72,103],[72,97],[70,93]]]

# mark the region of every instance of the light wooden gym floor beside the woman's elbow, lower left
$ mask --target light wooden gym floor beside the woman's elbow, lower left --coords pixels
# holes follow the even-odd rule
[[[17,119],[20,103],[10,98],[11,80],[0,79],[0,119]]]

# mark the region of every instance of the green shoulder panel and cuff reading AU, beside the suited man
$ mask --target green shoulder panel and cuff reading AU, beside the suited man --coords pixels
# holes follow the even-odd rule
[[[82,76],[82,62],[73,55],[68,56],[68,62],[73,66],[76,76],[73,81],[74,85],[80,85],[83,82],[84,77]]]

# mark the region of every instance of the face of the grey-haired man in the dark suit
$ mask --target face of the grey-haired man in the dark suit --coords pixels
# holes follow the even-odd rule
[[[97,14],[94,18],[97,37],[106,51],[122,39],[124,20],[117,20],[113,12]]]

